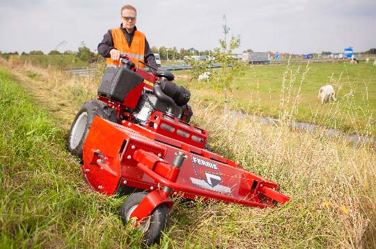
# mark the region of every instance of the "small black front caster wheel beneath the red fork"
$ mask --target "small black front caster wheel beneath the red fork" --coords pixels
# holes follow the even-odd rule
[[[143,200],[147,194],[148,193],[145,192],[137,192],[125,199],[119,213],[123,225],[127,225],[132,211],[136,209],[141,200]],[[143,232],[142,242],[146,246],[159,243],[162,232],[165,232],[168,229],[169,223],[169,208],[166,204],[159,204],[155,207],[150,216],[148,216],[139,226],[140,230]]]

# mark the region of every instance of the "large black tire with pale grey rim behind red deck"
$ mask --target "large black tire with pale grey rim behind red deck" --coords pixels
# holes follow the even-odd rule
[[[99,116],[104,120],[116,122],[116,110],[107,104],[90,99],[82,104],[75,120],[72,122],[67,138],[67,150],[82,160],[82,146],[88,136],[88,130],[93,123],[94,117]]]

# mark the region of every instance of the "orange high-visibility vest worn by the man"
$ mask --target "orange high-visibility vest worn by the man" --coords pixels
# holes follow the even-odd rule
[[[134,31],[132,44],[128,46],[128,42],[121,28],[111,29],[111,33],[113,47],[132,57],[132,61],[136,66],[145,67],[142,63],[139,63],[139,61],[145,61],[145,35],[140,31]],[[107,65],[119,65],[119,61],[112,61],[111,57],[107,58],[106,63]]]

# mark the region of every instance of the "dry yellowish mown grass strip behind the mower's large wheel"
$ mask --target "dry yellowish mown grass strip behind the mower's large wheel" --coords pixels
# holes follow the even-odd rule
[[[105,69],[104,65],[99,65],[91,77],[82,77],[52,65],[38,66],[29,61],[9,60],[4,65],[17,76],[19,84],[33,93],[38,103],[56,115],[58,125],[65,128],[70,127],[72,115],[83,102],[96,98],[98,82]]]

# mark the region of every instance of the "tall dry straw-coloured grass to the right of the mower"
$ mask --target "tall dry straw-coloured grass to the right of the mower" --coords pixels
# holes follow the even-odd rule
[[[300,70],[291,72],[286,67],[279,123],[274,127],[252,118],[223,115],[221,109],[212,112],[212,107],[205,109],[202,103],[194,108],[204,110],[196,118],[212,129],[211,144],[219,154],[274,179],[292,197],[287,213],[283,211],[287,207],[281,207],[276,216],[260,214],[262,223],[274,227],[276,237],[269,246],[374,248],[376,187],[370,183],[376,181],[375,150],[366,144],[351,147],[345,136],[333,140],[325,127],[315,134],[291,131],[289,124],[295,119],[309,66]],[[301,74],[300,81],[297,74]],[[274,222],[281,216],[292,229],[286,230],[287,223],[279,226],[281,220]],[[290,236],[295,242],[287,239]]]

